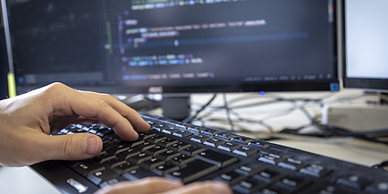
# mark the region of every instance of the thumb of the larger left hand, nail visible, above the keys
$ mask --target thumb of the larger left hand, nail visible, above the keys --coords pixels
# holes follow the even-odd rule
[[[102,140],[89,133],[48,136],[47,159],[83,160],[97,156],[103,148]]]

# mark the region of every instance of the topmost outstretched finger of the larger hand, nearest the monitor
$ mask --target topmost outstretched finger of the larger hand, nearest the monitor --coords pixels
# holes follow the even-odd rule
[[[80,91],[83,94],[89,95],[90,97],[95,97],[97,99],[101,99],[105,101],[108,105],[111,105],[114,110],[116,110],[119,114],[122,114],[123,117],[128,119],[128,121],[131,122],[132,126],[135,128],[136,131],[139,132],[144,132],[148,131],[150,126],[148,122],[144,121],[141,116],[133,110],[131,107],[128,105],[123,104],[116,98],[110,96],[110,95],[105,95],[105,94],[99,94],[95,92],[89,92],[89,91]]]

